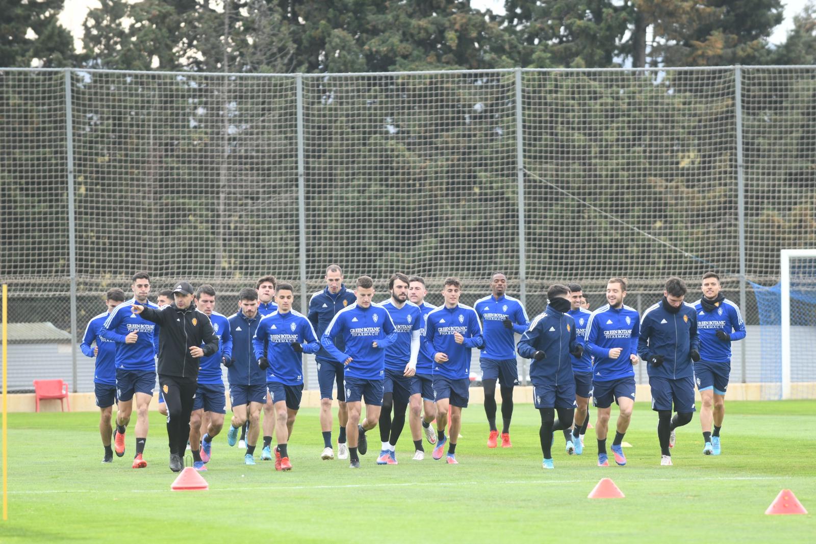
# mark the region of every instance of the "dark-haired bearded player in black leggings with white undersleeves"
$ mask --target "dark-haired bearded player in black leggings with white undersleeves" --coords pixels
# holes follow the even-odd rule
[[[397,328],[397,341],[385,350],[385,377],[383,408],[379,412],[379,438],[383,447],[377,458],[378,465],[397,464],[397,440],[406,424],[406,408],[419,411],[421,401],[419,391],[415,392],[417,380],[416,359],[419,354],[419,336],[422,332],[422,310],[408,301],[408,276],[393,274],[388,280],[388,292],[391,297],[380,305],[388,311],[394,327]],[[394,410],[393,421],[391,409]],[[415,441],[415,451],[422,448]]]

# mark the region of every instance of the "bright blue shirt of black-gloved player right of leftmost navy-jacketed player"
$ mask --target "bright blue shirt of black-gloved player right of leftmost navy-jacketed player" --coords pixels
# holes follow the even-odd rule
[[[264,356],[269,360],[266,381],[277,381],[286,386],[298,386],[304,382],[303,354],[292,348],[292,342],[303,346],[304,353],[320,350],[312,323],[304,314],[295,310],[282,314],[277,310],[260,320],[252,347],[255,360]]]

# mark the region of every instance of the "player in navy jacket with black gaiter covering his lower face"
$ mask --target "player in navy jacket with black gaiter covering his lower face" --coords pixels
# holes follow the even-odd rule
[[[552,469],[552,431],[569,430],[575,406],[575,378],[570,357],[580,358],[575,320],[570,311],[570,289],[556,283],[547,290],[549,303],[530,323],[518,342],[518,354],[530,359],[533,400],[541,416],[539,439],[544,455],[541,466]],[[558,411],[558,424],[555,412]]]

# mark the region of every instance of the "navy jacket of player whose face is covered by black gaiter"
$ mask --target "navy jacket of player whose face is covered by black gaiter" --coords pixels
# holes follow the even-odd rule
[[[534,386],[561,386],[574,380],[570,351],[577,346],[575,320],[548,305],[535,316],[516,349],[530,359],[530,381]],[[539,350],[544,358],[537,361],[533,354]]]

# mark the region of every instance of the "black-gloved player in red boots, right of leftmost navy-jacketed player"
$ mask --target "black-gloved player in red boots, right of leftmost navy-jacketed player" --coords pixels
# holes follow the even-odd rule
[[[303,354],[317,353],[320,343],[312,323],[292,310],[295,290],[289,283],[277,285],[277,310],[260,320],[252,340],[259,368],[266,371],[266,386],[275,407],[275,470],[291,470],[286,444],[303,395]]]

